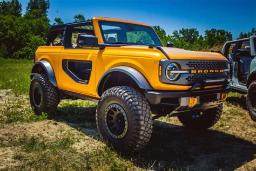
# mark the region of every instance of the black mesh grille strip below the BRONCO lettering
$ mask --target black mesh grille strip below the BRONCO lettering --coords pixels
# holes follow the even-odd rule
[[[190,74],[190,76],[186,77],[188,82],[199,81],[199,80],[211,80],[211,79],[225,79],[225,72],[215,72],[215,73],[196,73]]]

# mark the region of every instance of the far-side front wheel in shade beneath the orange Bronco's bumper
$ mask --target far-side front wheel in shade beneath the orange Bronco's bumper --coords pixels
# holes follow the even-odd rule
[[[179,121],[188,129],[207,129],[215,125],[220,119],[223,105],[210,108],[198,114],[184,113],[178,116]]]

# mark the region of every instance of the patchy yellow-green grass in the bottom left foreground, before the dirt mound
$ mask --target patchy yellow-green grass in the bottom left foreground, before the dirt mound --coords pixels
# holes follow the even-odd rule
[[[23,134],[0,147],[15,148],[13,159],[18,166],[10,170],[127,170],[133,168],[132,161],[125,161],[109,147],[96,147],[95,151],[82,152],[73,147],[80,139],[60,132],[57,140],[49,141],[44,136]]]

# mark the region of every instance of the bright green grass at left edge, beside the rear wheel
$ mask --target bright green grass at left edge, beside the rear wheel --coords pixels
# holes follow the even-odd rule
[[[29,94],[32,60],[0,58],[0,89],[12,89],[15,95]]]

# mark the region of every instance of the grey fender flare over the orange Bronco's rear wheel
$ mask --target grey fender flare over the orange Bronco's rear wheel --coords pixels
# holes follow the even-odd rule
[[[51,84],[55,87],[58,87],[56,77],[55,77],[55,73],[52,69],[52,66],[49,63],[49,61],[46,61],[46,60],[38,61],[33,65],[30,78],[32,78],[35,74],[39,73],[38,72],[39,67],[44,68],[46,74],[48,75],[48,78],[49,78],[49,81],[51,82]]]

